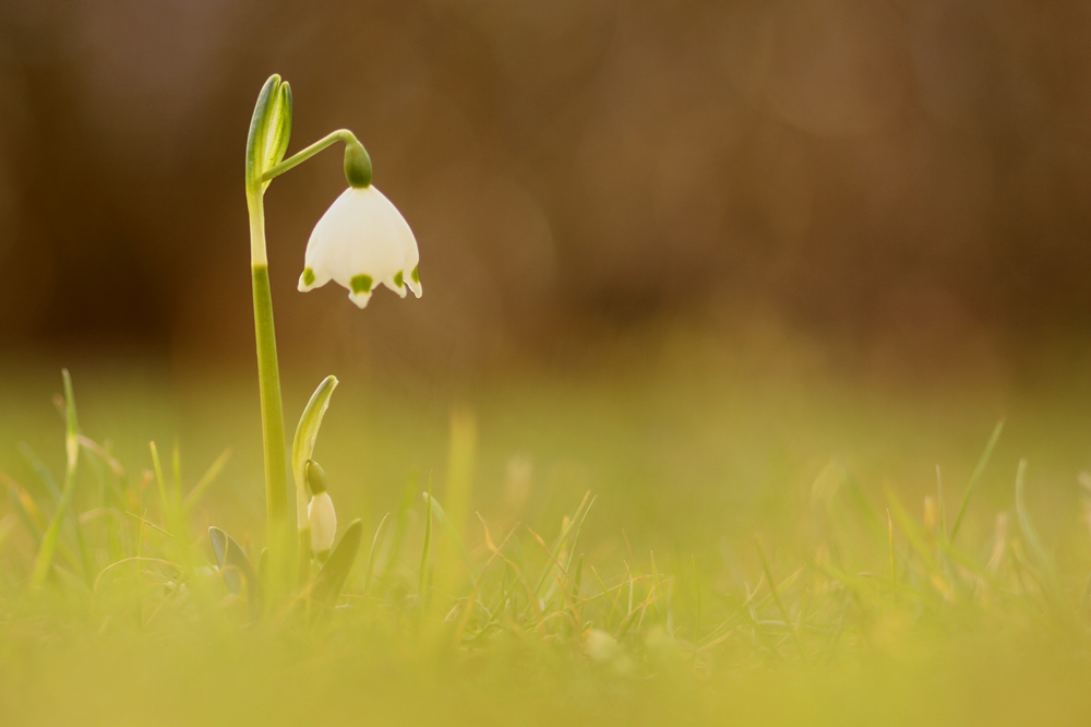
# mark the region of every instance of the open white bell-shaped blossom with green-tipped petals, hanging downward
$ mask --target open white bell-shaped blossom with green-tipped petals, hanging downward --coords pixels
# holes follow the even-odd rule
[[[417,239],[397,207],[372,186],[349,187],[326,210],[307,242],[299,290],[331,279],[360,308],[382,283],[405,298],[420,297]]]

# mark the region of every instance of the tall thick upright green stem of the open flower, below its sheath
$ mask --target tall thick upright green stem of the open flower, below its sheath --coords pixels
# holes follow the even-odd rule
[[[280,401],[280,370],[273,325],[273,297],[265,257],[265,214],[260,188],[247,190],[250,207],[250,251],[254,290],[254,333],[257,339],[257,380],[262,401],[262,444],[265,450],[265,514],[268,525],[271,601],[290,583],[295,550],[288,512],[288,452]]]

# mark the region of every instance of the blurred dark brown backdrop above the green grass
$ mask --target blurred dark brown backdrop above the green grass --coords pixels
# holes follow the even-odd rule
[[[272,72],[289,153],[368,146],[424,284],[295,293],[324,153],[266,195],[288,360],[472,373],[754,318],[927,371],[1091,327],[1087,2],[3,0],[4,347],[249,364]]]

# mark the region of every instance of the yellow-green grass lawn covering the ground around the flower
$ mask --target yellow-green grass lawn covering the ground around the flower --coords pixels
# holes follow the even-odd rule
[[[360,557],[335,604],[271,613],[208,535],[259,562],[253,386],[88,362],[57,417],[60,382],[8,365],[0,720],[1087,724],[1078,378],[899,393],[657,351],[453,414],[343,374],[315,455]]]

